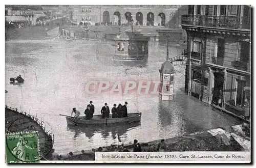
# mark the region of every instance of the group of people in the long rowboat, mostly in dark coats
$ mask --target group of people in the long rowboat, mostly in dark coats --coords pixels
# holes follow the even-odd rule
[[[128,104],[127,101],[124,102],[124,105],[118,104],[118,106],[116,106],[116,104],[114,104],[113,108],[111,109],[112,118],[128,117],[127,104]],[[95,107],[93,105],[93,101],[90,101],[90,104],[88,104],[86,110],[84,110],[84,115],[86,115],[85,119],[91,120],[93,118],[94,111],[95,111]],[[110,118],[110,108],[108,106],[108,103],[104,104],[100,112],[101,112],[102,119]],[[72,109],[71,117],[73,113],[75,114],[75,117],[74,117],[75,119],[78,119],[78,117],[81,114],[80,111],[78,111],[75,107]]]

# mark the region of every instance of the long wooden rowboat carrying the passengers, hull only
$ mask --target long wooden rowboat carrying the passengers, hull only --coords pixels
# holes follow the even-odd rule
[[[60,115],[66,116],[66,115]],[[74,117],[66,116],[67,124],[68,125],[108,125],[108,124],[115,124],[115,123],[132,123],[136,121],[140,121],[141,113],[130,113],[128,117],[125,118],[110,118],[108,119],[101,119],[101,115],[93,116],[91,120],[85,120],[85,116],[79,117],[78,119],[74,119]]]

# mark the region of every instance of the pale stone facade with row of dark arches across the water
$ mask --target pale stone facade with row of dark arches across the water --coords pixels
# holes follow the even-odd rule
[[[177,5],[110,5],[72,6],[73,20],[77,22],[121,25],[138,22],[139,25],[165,26],[178,10]]]

